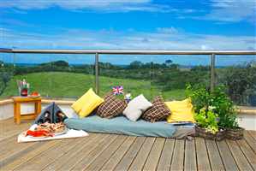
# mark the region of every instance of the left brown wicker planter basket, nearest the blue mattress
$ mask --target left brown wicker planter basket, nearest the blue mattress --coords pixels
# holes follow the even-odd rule
[[[217,141],[225,139],[225,136],[226,136],[225,129],[220,129],[216,134],[213,134],[213,133],[207,132],[205,128],[198,127],[198,126],[195,127],[195,133],[197,137],[202,137],[205,139],[213,139]]]

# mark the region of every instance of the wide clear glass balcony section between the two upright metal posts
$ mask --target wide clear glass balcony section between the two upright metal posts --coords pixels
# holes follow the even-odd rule
[[[210,56],[100,55],[100,95],[123,85],[133,97],[185,98],[187,84],[210,85]]]

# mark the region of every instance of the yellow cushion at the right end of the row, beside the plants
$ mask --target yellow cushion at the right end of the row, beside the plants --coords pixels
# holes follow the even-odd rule
[[[178,121],[191,121],[195,122],[193,119],[194,111],[193,105],[190,99],[185,99],[182,101],[172,101],[165,102],[165,104],[170,109],[171,115],[167,117],[168,122],[178,122]]]

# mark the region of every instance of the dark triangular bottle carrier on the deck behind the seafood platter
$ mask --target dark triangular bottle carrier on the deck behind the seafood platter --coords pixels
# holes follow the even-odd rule
[[[60,109],[56,103],[53,102],[41,111],[41,113],[38,115],[34,123],[57,123],[64,121],[67,118],[68,117],[63,113],[63,110]]]

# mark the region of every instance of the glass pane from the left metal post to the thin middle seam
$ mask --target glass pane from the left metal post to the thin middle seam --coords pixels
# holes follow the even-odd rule
[[[100,55],[99,62],[99,95],[122,85],[124,93],[130,92],[132,97],[143,94],[152,99],[151,68],[141,68],[142,62],[151,62],[150,56]]]

